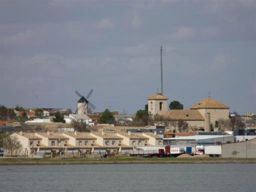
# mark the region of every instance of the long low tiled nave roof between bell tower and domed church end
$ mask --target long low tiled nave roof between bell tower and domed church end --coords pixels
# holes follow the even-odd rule
[[[165,112],[163,117],[170,120],[204,120],[201,113],[194,109],[172,109]]]

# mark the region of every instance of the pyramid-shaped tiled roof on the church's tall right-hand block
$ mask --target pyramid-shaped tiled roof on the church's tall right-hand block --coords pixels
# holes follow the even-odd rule
[[[218,102],[210,97],[201,100],[200,102],[194,104],[190,107],[190,109],[199,109],[199,108],[222,108],[222,109],[228,109],[229,106]]]

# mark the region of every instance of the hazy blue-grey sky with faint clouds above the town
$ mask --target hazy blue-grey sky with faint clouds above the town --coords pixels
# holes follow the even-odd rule
[[[0,104],[143,109],[160,91],[256,113],[254,0],[0,0]]]

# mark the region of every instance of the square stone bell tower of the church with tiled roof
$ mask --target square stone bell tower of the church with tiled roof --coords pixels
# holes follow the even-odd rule
[[[168,111],[168,98],[161,93],[156,93],[147,100],[149,114],[163,114]]]

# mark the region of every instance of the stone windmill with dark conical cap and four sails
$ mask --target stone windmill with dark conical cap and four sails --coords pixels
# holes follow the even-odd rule
[[[88,114],[88,106],[92,110],[96,108],[94,106],[94,104],[92,104],[88,100],[90,95],[92,94],[92,92],[93,92],[93,89],[90,89],[90,91],[88,92],[87,96],[84,97],[77,90],[75,90],[75,93],[77,94],[77,96],[80,97],[80,99],[77,101],[77,109],[75,110],[75,113],[77,112],[77,114]]]

